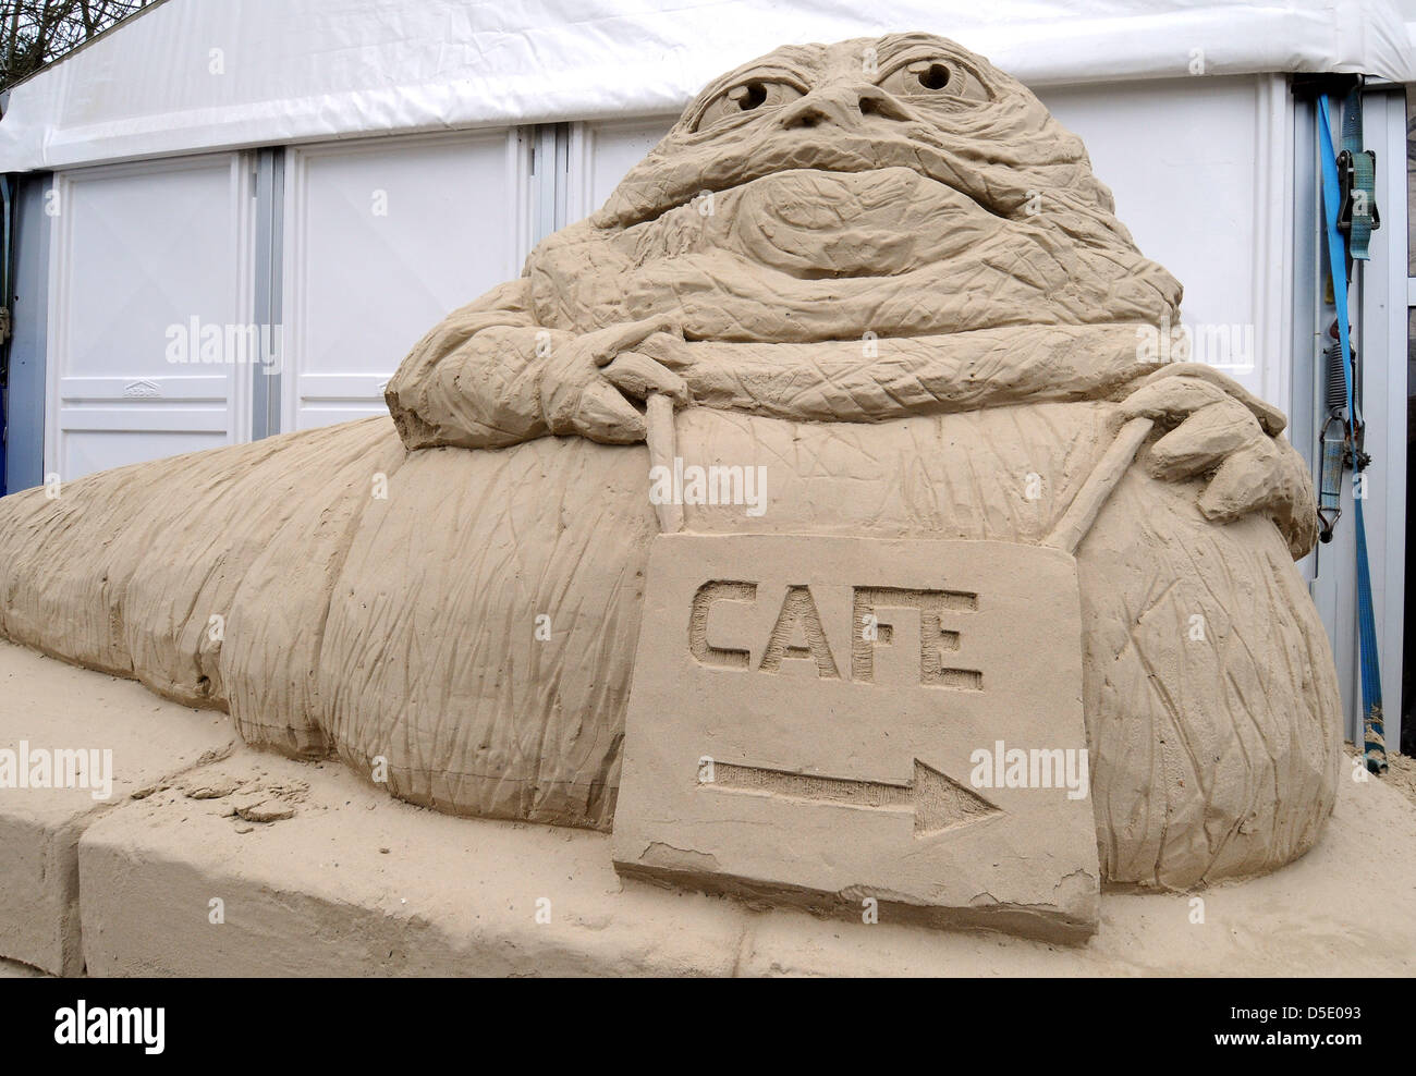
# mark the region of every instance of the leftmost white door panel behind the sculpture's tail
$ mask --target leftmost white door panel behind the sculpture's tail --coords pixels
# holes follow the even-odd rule
[[[59,173],[45,471],[248,440],[251,188],[242,154]]]

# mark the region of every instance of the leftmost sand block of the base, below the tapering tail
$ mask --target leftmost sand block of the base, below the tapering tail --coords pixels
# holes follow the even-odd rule
[[[234,740],[225,714],[163,702],[133,681],[0,643],[0,957],[54,974],[81,971],[81,834],[135,793],[224,753]],[[59,752],[82,752],[89,769]],[[69,787],[34,787],[61,783],[52,766],[59,760],[65,769],[65,759],[74,759]],[[112,776],[106,797],[105,773]],[[81,774],[86,787],[75,787]]]

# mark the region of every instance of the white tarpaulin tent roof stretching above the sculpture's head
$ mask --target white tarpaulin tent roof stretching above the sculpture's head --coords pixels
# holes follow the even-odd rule
[[[893,30],[1032,85],[1189,76],[1197,59],[1416,81],[1392,0],[167,0],[14,89],[0,171],[671,112],[783,42]]]

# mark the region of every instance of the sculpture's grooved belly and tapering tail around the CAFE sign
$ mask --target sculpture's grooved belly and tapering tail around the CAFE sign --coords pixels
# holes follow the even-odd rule
[[[694,409],[685,467],[766,483],[760,514],[688,504],[687,527],[1034,542],[1104,450],[1109,408],[878,426]],[[333,746],[365,774],[382,757],[395,796],[439,810],[612,824],[657,530],[641,446],[405,454],[387,422],[350,423],[3,515],[8,637],[229,706],[253,743]],[[1192,486],[1133,467],[1078,563],[1104,875],[1189,885],[1301,854],[1331,810],[1338,698],[1276,528],[1215,527]]]

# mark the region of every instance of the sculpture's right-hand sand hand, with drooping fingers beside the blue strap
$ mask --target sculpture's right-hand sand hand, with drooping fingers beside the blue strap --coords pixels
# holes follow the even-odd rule
[[[1146,457],[1153,476],[1167,481],[1211,476],[1199,496],[1206,520],[1229,522],[1263,513],[1294,559],[1313,548],[1318,534],[1313,480],[1303,457],[1279,436],[1287,425],[1280,411],[1199,362],[1157,370],[1121,408],[1172,428]]]

